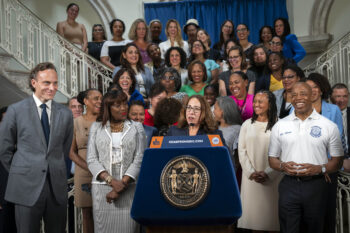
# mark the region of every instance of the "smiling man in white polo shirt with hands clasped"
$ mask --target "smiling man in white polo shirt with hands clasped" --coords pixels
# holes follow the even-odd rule
[[[296,83],[292,90],[294,112],[272,129],[271,168],[286,175],[279,185],[281,233],[321,233],[327,211],[328,174],[342,166],[344,151],[337,126],[312,108],[311,88]],[[331,159],[327,158],[327,154]]]

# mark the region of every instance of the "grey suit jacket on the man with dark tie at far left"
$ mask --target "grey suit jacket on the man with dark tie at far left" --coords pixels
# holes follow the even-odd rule
[[[32,96],[11,105],[0,124],[0,160],[9,170],[5,193],[9,202],[33,206],[47,176],[57,202],[67,200],[65,156],[72,144],[73,116],[55,101],[51,108],[49,145]]]

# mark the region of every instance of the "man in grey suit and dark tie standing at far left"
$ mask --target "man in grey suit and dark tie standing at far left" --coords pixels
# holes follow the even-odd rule
[[[9,171],[5,199],[15,204],[17,231],[64,232],[65,156],[73,137],[72,112],[53,101],[55,66],[38,64],[29,77],[33,96],[11,105],[0,125],[0,161]]]

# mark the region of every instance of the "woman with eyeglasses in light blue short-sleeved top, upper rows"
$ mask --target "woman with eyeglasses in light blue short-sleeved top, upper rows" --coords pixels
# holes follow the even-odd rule
[[[195,40],[191,46],[191,56],[189,62],[194,60],[201,61],[207,69],[207,83],[214,84],[218,82],[220,66],[211,59],[208,59],[208,51],[200,40]]]

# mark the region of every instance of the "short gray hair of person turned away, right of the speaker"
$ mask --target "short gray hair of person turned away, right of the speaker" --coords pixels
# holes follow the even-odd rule
[[[216,99],[223,111],[223,117],[228,125],[241,125],[242,117],[236,102],[229,96],[221,96]]]

